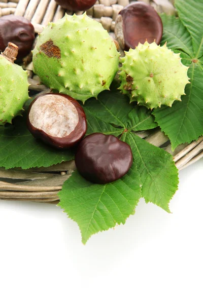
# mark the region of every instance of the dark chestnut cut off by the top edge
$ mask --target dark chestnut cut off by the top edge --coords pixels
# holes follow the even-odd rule
[[[90,9],[96,0],[55,0],[62,8],[70,11],[86,11]]]

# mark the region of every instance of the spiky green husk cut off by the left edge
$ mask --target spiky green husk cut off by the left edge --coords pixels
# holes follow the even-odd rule
[[[0,126],[20,115],[28,86],[26,71],[0,55]]]

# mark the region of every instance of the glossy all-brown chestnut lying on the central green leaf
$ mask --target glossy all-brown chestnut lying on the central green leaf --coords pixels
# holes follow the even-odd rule
[[[105,184],[124,176],[132,165],[130,146],[115,137],[93,133],[78,145],[75,163],[87,180]]]

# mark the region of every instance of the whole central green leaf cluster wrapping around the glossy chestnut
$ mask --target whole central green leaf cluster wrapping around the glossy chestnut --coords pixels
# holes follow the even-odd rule
[[[168,203],[178,188],[178,170],[172,156],[135,133],[157,126],[151,111],[129,104],[128,97],[119,92],[108,91],[100,93],[97,101],[87,100],[84,110],[87,134],[120,135],[131,146],[133,165],[124,177],[106,185],[93,184],[78,172],[64,182],[59,206],[78,223],[82,242],[116,223],[124,224],[141,197],[170,212]]]

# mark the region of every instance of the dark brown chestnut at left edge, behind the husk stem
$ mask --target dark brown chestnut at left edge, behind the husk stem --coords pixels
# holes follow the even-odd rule
[[[22,59],[32,49],[35,29],[24,17],[7,15],[0,18],[0,50],[3,52],[8,43],[18,46],[17,59]]]

